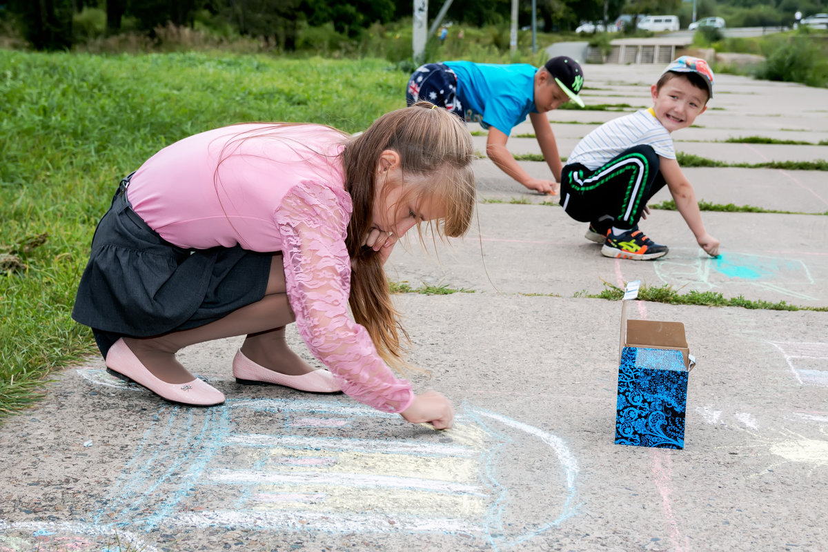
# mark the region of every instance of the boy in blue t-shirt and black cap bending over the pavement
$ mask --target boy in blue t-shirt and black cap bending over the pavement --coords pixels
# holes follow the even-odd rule
[[[529,190],[556,195],[561,181],[561,156],[544,113],[570,99],[584,107],[578,97],[583,85],[583,70],[566,55],[551,58],[540,69],[527,64],[445,61],[422,65],[412,74],[406,101],[411,105],[426,100],[464,121],[479,122],[489,130],[486,155],[495,165]],[[506,149],[509,132],[527,115],[555,180],[532,178]]]

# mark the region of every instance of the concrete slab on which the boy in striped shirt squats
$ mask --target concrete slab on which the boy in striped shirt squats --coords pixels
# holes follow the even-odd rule
[[[564,297],[600,293],[604,282],[623,287],[640,280],[682,294],[713,291],[726,298],[828,306],[828,217],[704,213],[705,227],[722,243],[721,257],[713,259],[696,245],[680,214],[653,211],[641,228],[670,252],[652,262],[602,256],[600,246],[583,237],[587,224],[560,207],[483,204],[478,217],[480,233],[475,222],[469,236],[438,243],[436,253],[421,252],[416,243],[408,251],[396,247],[389,278],[413,287]]]

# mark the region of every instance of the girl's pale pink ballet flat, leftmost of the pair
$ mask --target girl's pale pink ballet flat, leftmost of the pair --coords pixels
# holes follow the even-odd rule
[[[224,393],[199,378],[187,383],[167,383],[152,375],[135,353],[118,339],[106,354],[107,372],[125,382],[136,382],[167,401],[187,406],[213,406],[224,402]]]

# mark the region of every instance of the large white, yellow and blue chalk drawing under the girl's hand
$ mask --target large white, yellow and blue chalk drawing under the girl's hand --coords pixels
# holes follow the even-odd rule
[[[91,526],[437,533],[500,550],[579,507],[563,439],[471,404],[438,432],[347,397],[162,403],[133,451]]]

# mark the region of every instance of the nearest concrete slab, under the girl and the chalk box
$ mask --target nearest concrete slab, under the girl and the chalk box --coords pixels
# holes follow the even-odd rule
[[[166,404],[96,359],[65,370],[0,431],[0,545],[821,550],[824,314],[634,305],[683,322],[699,358],[686,448],[667,450],[614,444],[618,302],[481,298],[397,297],[433,375],[416,387],[455,402],[445,432],[238,386],[238,340],[181,353],[224,406]]]

